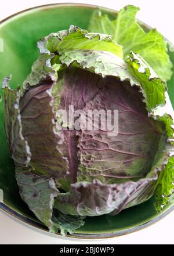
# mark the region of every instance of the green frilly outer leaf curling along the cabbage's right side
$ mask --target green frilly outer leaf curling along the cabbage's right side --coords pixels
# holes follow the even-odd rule
[[[149,116],[153,117],[154,120],[161,121],[165,124],[166,134],[168,135],[168,142],[171,143],[173,149],[173,136],[174,136],[174,112],[172,108],[172,104],[169,100],[168,93],[164,91],[164,86],[158,85],[160,82],[157,75],[151,74],[151,68],[147,63],[142,60],[139,55],[135,55],[135,53],[131,53],[128,57],[128,62],[130,64],[129,70],[133,73],[138,81],[142,82],[142,93],[144,95],[144,102],[147,102],[148,110],[150,111]],[[149,93],[147,85],[151,84],[151,91],[153,93]],[[156,84],[156,85],[155,85]],[[164,85],[164,82],[162,82]],[[154,85],[158,86],[157,93],[158,97],[154,97]],[[163,93],[162,93],[163,91]],[[144,93],[145,92],[145,93]],[[162,97],[162,94],[165,95]],[[156,106],[155,106],[156,105]],[[154,205],[155,208],[160,211],[162,207],[166,203],[168,203],[169,196],[173,193],[173,153],[171,153],[171,158],[169,158],[168,164],[164,168],[164,171],[161,172],[158,178],[158,182],[155,185],[155,200]]]

